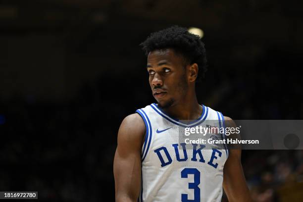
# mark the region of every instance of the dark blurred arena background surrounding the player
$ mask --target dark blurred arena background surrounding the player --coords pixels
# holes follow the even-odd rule
[[[171,25],[203,30],[200,103],[303,119],[302,20],[303,1],[1,0],[0,191],[113,202],[119,125],[154,102],[139,44]],[[255,201],[303,201],[303,151],[246,150],[242,162]]]

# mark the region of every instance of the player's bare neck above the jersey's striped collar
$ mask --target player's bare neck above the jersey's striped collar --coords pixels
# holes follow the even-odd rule
[[[179,120],[196,120],[202,114],[202,106],[198,103],[195,92],[184,96],[182,100],[175,101],[163,110]]]

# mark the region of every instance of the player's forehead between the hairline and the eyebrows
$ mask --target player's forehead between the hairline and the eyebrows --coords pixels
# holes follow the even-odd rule
[[[148,63],[169,62],[178,64],[182,62],[182,56],[176,54],[173,49],[153,50],[148,55]]]

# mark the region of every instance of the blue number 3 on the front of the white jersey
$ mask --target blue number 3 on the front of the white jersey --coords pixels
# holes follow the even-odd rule
[[[194,189],[194,200],[188,200],[187,194],[181,194],[182,202],[200,202],[200,172],[197,168],[184,168],[181,171],[181,178],[187,178],[189,174],[194,175],[194,182],[188,183],[189,189]]]

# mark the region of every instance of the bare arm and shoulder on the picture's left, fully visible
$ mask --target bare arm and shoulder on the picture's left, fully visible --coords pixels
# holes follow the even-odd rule
[[[137,201],[141,185],[141,148],[145,124],[139,114],[127,116],[118,132],[114,158],[116,201]]]

